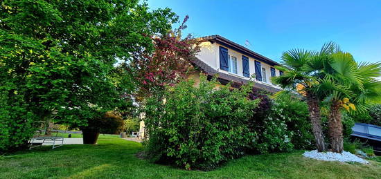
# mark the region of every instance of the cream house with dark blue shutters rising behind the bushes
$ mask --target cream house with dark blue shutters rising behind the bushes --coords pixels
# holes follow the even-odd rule
[[[272,84],[271,77],[282,75],[277,70],[277,62],[263,55],[255,53],[244,46],[236,44],[220,35],[211,35],[200,38],[200,53],[193,60],[195,70],[191,77],[199,77],[200,71],[208,75],[218,75],[221,84],[232,83],[232,86],[247,84],[250,77],[254,77],[254,86],[271,93],[281,91],[281,88]]]

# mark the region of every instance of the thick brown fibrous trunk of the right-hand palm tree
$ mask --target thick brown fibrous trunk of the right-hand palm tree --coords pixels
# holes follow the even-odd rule
[[[342,114],[340,113],[341,103],[333,100],[328,116],[328,133],[330,135],[330,147],[333,152],[342,153],[343,146],[343,124]]]

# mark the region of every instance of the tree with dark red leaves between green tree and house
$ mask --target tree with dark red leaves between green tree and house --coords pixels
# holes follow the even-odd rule
[[[190,62],[200,51],[199,43],[192,35],[181,38],[181,30],[186,28],[187,20],[188,16],[179,28],[162,37],[152,37],[153,53],[134,57],[132,66],[136,69],[139,97],[159,95],[166,86],[173,86],[186,78]]]

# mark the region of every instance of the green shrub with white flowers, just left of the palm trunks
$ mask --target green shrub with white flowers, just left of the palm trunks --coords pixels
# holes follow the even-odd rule
[[[308,106],[305,102],[294,99],[290,95],[283,95],[271,100],[263,93],[257,94],[266,102],[265,104],[270,104],[267,113],[254,114],[252,118],[252,122],[254,122],[252,130],[258,133],[256,142],[253,143],[253,148],[257,152],[269,153],[313,147]]]

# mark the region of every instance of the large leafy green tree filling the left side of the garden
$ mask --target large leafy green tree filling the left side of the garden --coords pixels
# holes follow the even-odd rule
[[[133,85],[114,64],[152,51],[175,21],[139,0],[1,1],[0,151],[26,144],[35,120],[80,126],[120,107]]]

